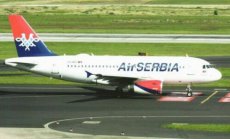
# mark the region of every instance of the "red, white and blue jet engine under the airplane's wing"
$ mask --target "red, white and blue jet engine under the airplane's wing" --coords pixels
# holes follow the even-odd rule
[[[162,81],[140,80],[140,81],[136,81],[134,85],[128,86],[128,89],[138,94],[161,94]]]

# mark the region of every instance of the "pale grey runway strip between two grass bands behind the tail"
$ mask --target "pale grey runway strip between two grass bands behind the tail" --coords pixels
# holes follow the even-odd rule
[[[230,35],[39,33],[39,36],[45,42],[230,43]],[[0,41],[13,41],[12,34],[0,33]]]

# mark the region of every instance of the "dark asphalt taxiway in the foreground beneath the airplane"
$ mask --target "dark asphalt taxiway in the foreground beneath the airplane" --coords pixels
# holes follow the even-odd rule
[[[104,86],[1,85],[0,135],[27,131],[44,139],[229,138],[229,133],[162,127],[168,123],[230,124],[230,103],[219,102],[230,92],[229,88],[194,88],[202,94],[186,102],[159,101],[161,96],[121,98],[112,90]],[[168,86],[163,97],[183,97],[183,91],[183,87]],[[215,91],[214,96],[202,103]]]

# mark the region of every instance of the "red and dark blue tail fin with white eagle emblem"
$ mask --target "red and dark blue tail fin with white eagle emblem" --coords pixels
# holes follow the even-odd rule
[[[54,56],[21,15],[10,15],[9,22],[19,57]]]

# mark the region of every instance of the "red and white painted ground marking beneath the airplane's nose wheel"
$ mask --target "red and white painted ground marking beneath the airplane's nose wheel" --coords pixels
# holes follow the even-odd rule
[[[158,99],[158,101],[168,101],[168,102],[190,102],[195,97],[175,97],[175,96],[163,96]]]

